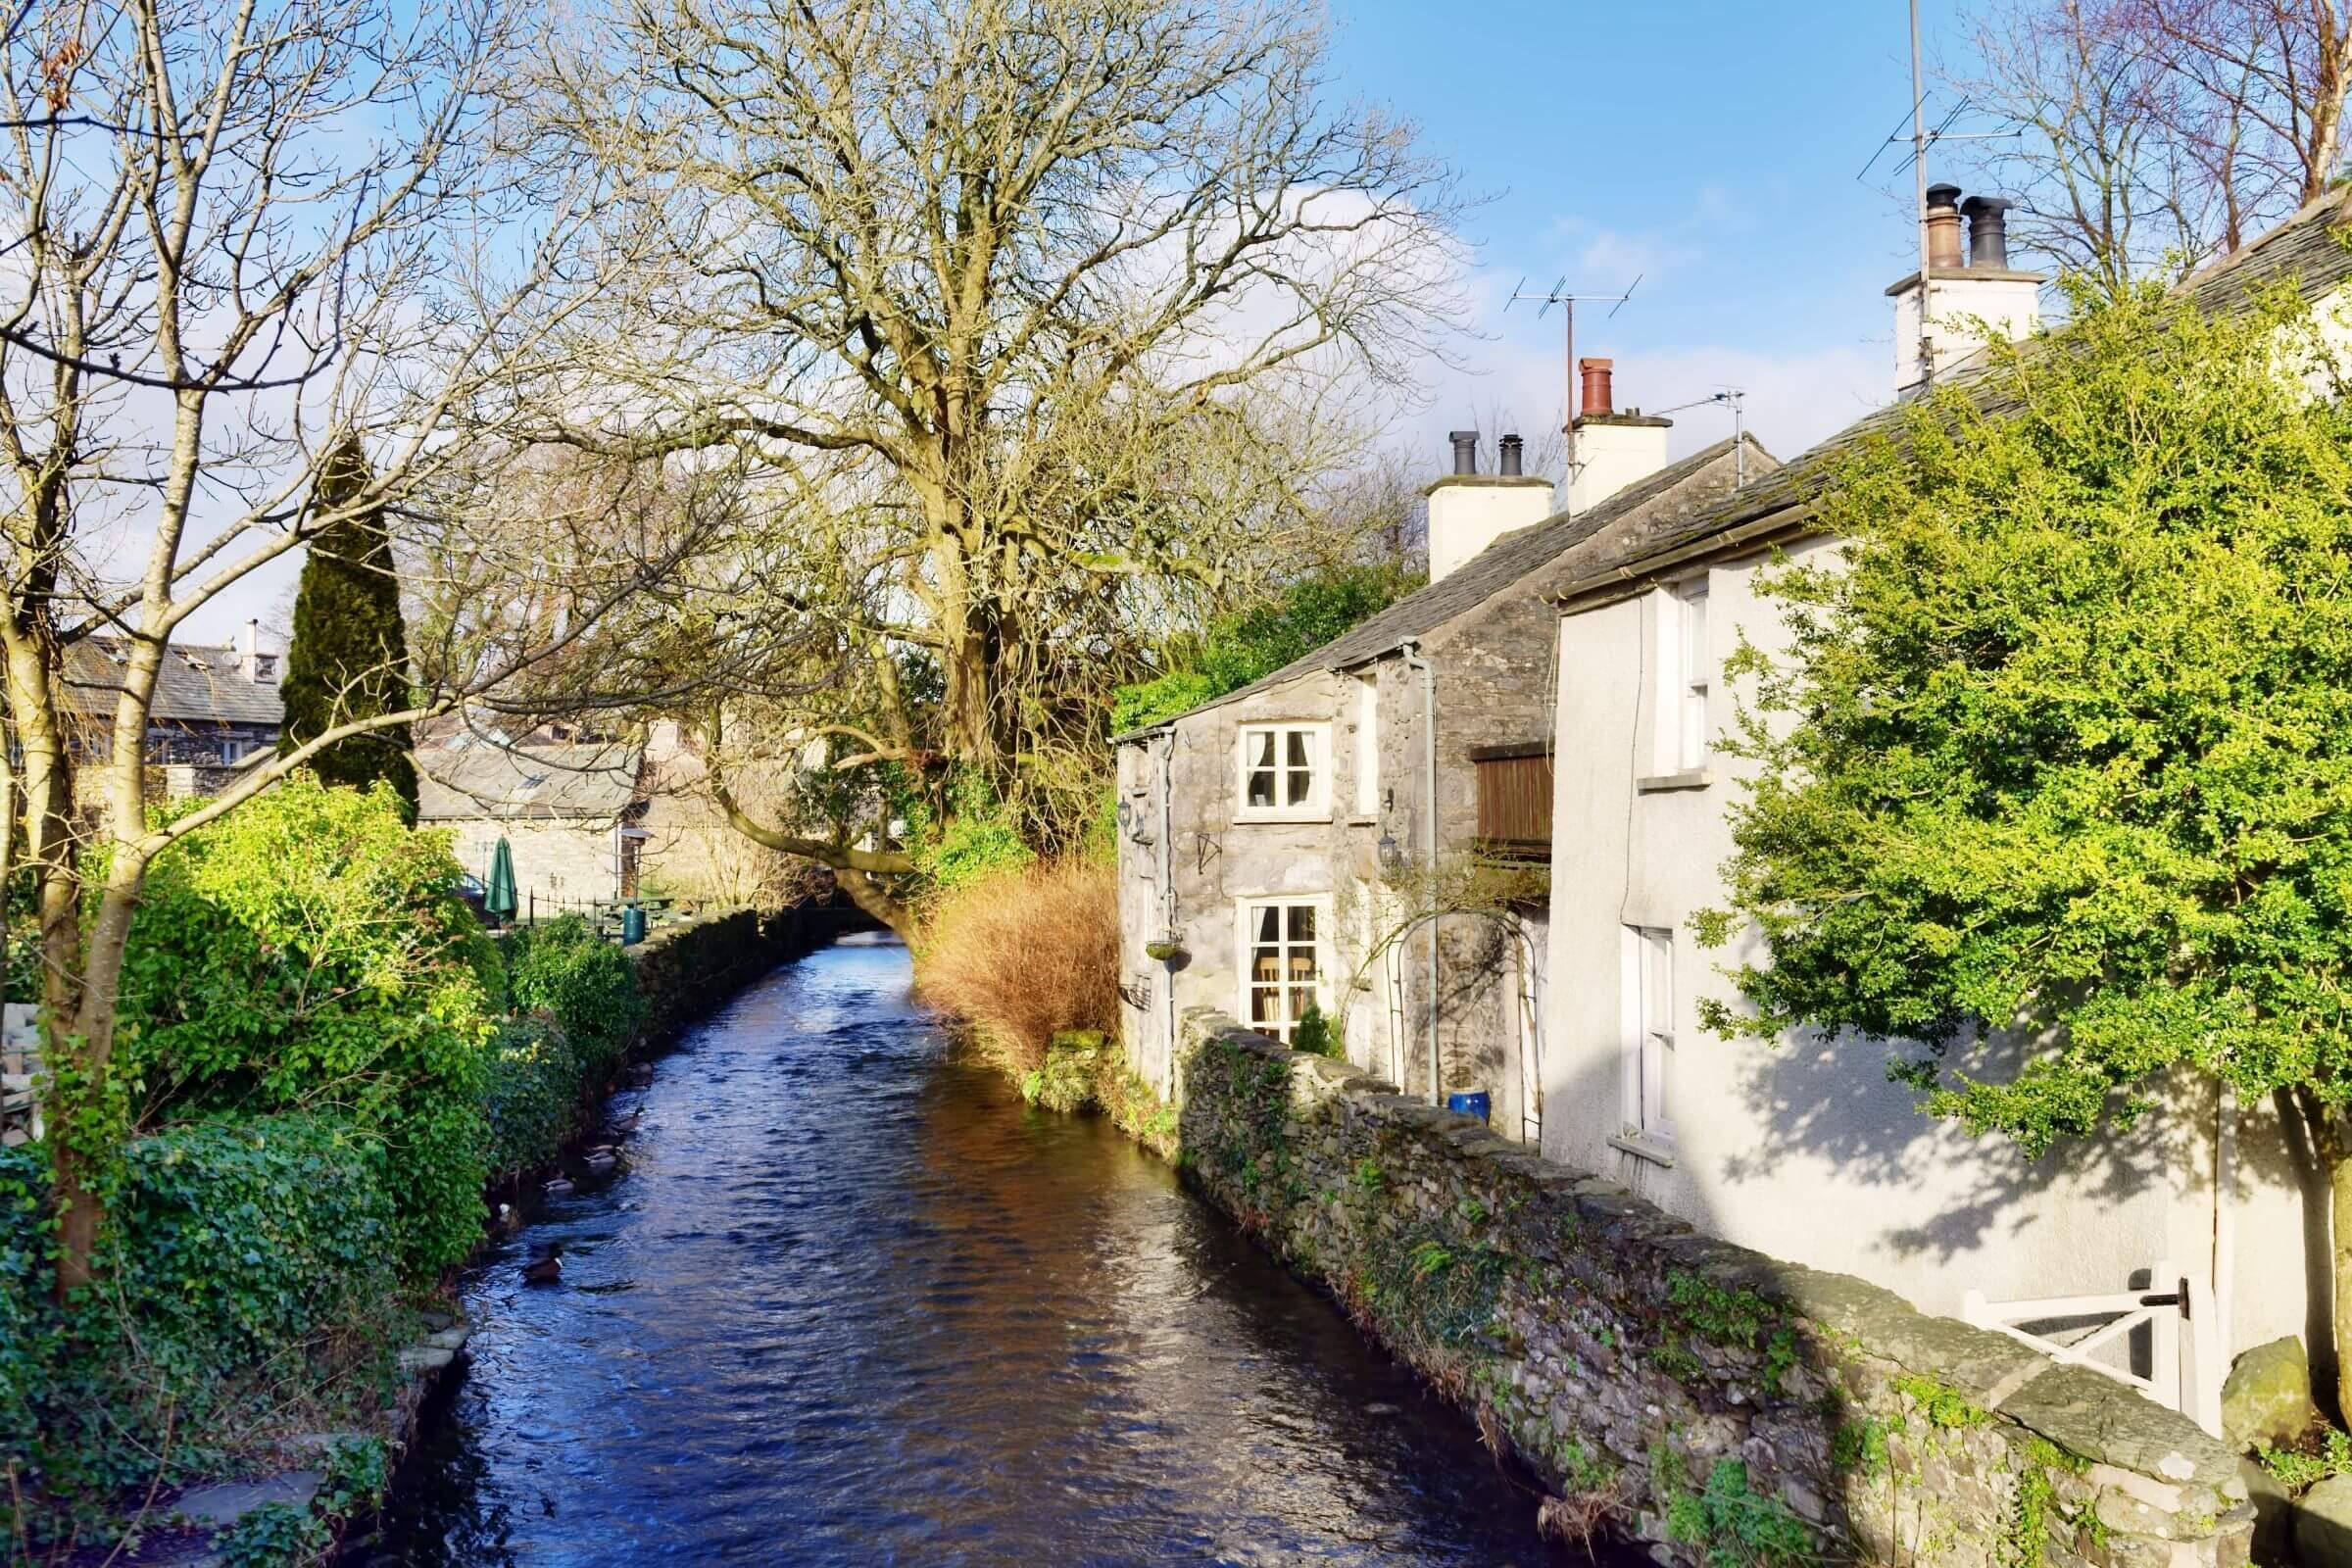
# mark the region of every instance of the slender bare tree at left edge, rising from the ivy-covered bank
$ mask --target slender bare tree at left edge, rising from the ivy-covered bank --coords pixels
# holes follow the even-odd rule
[[[595,559],[574,562],[555,623],[529,614],[520,562],[445,550],[461,576],[416,588],[466,611],[402,672],[414,708],[148,816],[148,715],[191,616],[360,510],[461,536],[527,451],[503,371],[536,362],[600,280],[572,244],[593,186],[501,146],[492,89],[517,42],[473,0],[94,0],[19,7],[0,35],[0,656],[38,879],[61,1291],[92,1279],[125,1135],[118,983],[155,856],[343,736],[579,661],[701,543],[581,529]],[[320,503],[350,442],[372,477]],[[82,705],[103,689],[87,738],[68,684]]]

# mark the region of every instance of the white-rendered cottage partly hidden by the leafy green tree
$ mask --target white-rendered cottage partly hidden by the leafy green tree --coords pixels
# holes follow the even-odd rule
[[[1999,207],[1971,205],[1992,219],[1978,221],[1971,263],[1952,197],[1940,186],[1929,207],[1950,315],[2030,329],[2039,280],[2006,266]],[[2352,275],[2336,237],[2347,212],[2352,202],[2331,195],[2187,287],[2206,310],[2279,277],[2331,301]],[[1917,353],[1898,355],[1898,390],[1924,364],[1966,388],[1964,327],[1919,308],[1917,277],[1891,294],[1898,331],[1924,331]],[[1724,903],[1729,806],[1750,766],[1719,748],[1752,691],[1748,677],[1724,682],[1724,658],[1743,637],[1766,654],[1788,646],[1757,571],[1835,550],[1811,527],[1809,498],[1839,451],[1891,421],[1872,414],[1696,517],[1639,541],[1592,541],[1555,569],[1543,1154],[1729,1241],[1863,1274],[1926,1312],[1985,1326],[2046,1328],[2067,1314],[2004,1305],[2169,1293],[2185,1279],[2190,1312],[2173,1328],[2192,1349],[2199,1321],[2218,1328],[2204,1366],[2161,1363],[2145,1338],[2129,1356],[2159,1385],[2154,1396],[2211,1420],[2232,1347],[2288,1333],[2321,1354],[2328,1345],[2324,1222],[2317,1239],[2305,1234],[2312,1173],[2288,1159],[2270,1107],[2244,1107],[2237,1154],[2218,1135],[2206,1084],[2129,1138],[2025,1161],[1926,1119],[1884,1079],[1877,1041],[1806,1037],[1766,1051],[1698,1025],[1705,999],[1736,999],[1724,971],[1759,952],[1752,936],[1715,952],[1691,938],[1693,912]],[[2194,1314],[2201,1300],[2216,1309]]]

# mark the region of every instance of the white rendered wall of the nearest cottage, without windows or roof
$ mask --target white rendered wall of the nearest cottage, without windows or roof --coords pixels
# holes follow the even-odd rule
[[[1788,646],[1755,569],[1710,574],[1717,658],[1740,630],[1769,654]],[[1724,971],[1759,957],[1755,938],[1724,950],[1691,938],[1691,917],[1724,898],[1717,867],[1733,849],[1726,813],[1745,764],[1717,755],[1703,788],[1637,788],[1653,757],[1656,599],[1562,621],[1543,1152],[1705,1232],[1860,1274],[1938,1314],[1959,1312],[1969,1288],[1992,1300],[2119,1291],[2157,1260],[2211,1279],[2209,1088],[2187,1088],[2129,1135],[2025,1161],[1999,1138],[1924,1117],[1886,1081],[1879,1041],[1724,1041],[1698,1027],[1698,999],[1736,1004]],[[1736,698],[1752,698],[1752,682],[1712,696],[1717,733]],[[1623,1131],[1628,924],[1675,931],[1672,1166],[1611,1145]],[[2310,1328],[2305,1211],[2267,1107],[2251,1107],[2241,1147],[2234,1349]]]

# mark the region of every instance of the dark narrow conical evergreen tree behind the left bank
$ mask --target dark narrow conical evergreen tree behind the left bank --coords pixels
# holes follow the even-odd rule
[[[318,475],[315,510],[336,512],[367,489],[358,442],[339,447]],[[400,618],[400,578],[381,510],[360,510],[310,541],[294,592],[294,644],[287,649],[285,733],[280,750],[355,719],[409,708],[409,632]],[[416,764],[407,724],[346,736],[310,759],[332,785],[365,790],[379,778],[416,820]]]

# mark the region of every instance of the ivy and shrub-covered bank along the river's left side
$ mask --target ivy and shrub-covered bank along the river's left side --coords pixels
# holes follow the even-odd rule
[[[492,1218],[485,1182],[508,1197],[508,1182],[543,1171],[593,1128],[633,1056],[837,929],[821,910],[729,912],[661,929],[623,954],[572,919],[492,945],[461,907],[459,924],[416,924],[445,912],[426,893],[447,882],[437,872],[447,856],[397,830],[369,858],[365,830],[388,811],[358,802],[350,792],[289,790],[252,820],[287,827],[278,837],[292,846],[325,837],[313,832],[318,813],[346,830],[308,882],[358,886],[367,879],[348,875],[350,865],[414,863],[407,882],[376,870],[374,882],[390,882],[390,893],[372,886],[353,900],[355,929],[386,926],[421,954],[369,997],[369,1013],[282,1004],[270,983],[289,966],[266,961],[261,947],[275,929],[202,882],[212,860],[191,865],[186,898],[162,884],[155,910],[165,919],[148,931],[143,961],[167,973],[183,947],[179,973],[202,961],[214,983],[202,1004],[160,983],[158,1001],[141,1004],[136,1048],[158,1063],[153,1079],[174,1086],[167,1112],[186,1110],[125,1147],[103,1232],[103,1293],[54,1300],[47,1152],[38,1143],[0,1150],[0,1519],[9,1561],[82,1561],[120,1547],[141,1563],[254,1568],[329,1554],[379,1500],[423,1394],[466,1345],[445,1284],[447,1265]],[[228,839],[212,856],[242,849]],[[299,891],[306,879],[282,860],[266,882],[240,875],[223,886],[245,903],[254,903],[254,886]],[[346,875],[329,875],[336,870]],[[209,903],[188,912],[174,903],[198,896]],[[322,905],[308,907],[315,922]],[[358,919],[367,910],[379,912],[374,924]],[[423,945],[416,931],[449,940]],[[278,943],[285,950],[289,943]],[[435,957],[442,950],[447,957]],[[322,954],[341,964],[374,957],[318,938],[299,952],[313,961],[306,973]],[[463,1006],[437,1004],[445,992]],[[325,1060],[348,1074],[336,1051],[402,1067],[393,1056],[405,1039],[402,1006],[421,1016],[433,1006],[428,1023],[407,1032],[437,1041],[440,1056],[423,1060],[447,1070],[362,1081],[383,1110],[362,1093],[306,1105],[306,1079],[292,1077],[282,1107],[266,1098],[266,1072],[296,1074]],[[367,1030],[376,1032],[372,1058]],[[240,1112],[228,1095],[235,1086],[252,1110]],[[426,1117],[461,1135],[405,1133]]]

